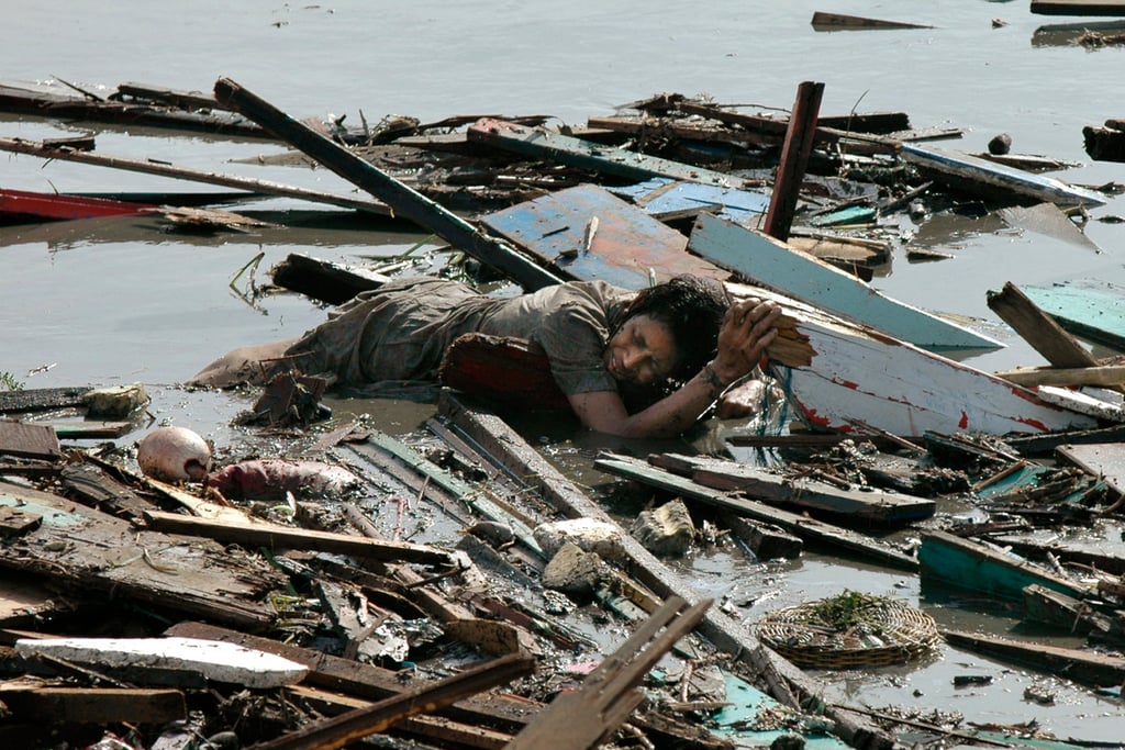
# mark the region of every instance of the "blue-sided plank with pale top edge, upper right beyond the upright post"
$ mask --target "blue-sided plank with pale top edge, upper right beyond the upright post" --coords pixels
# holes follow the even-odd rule
[[[1102,206],[1106,199],[1092,190],[1066,184],[1042,174],[917,144],[903,144],[903,161],[955,188],[984,196],[1048,201],[1062,207]]]

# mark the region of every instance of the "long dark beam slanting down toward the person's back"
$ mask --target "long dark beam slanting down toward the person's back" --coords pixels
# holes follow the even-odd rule
[[[397,215],[430,229],[482,263],[508,274],[525,289],[539,289],[558,282],[558,278],[515,252],[507,243],[482,232],[231,79],[219,79],[215,83],[215,98],[259,123],[340,177],[384,200]]]

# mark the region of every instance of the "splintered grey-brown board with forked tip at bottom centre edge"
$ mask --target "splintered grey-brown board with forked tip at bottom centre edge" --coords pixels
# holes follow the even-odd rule
[[[645,699],[641,680],[700,622],[711,599],[672,597],[606,657],[580,687],[559,693],[507,750],[586,750],[606,741]]]

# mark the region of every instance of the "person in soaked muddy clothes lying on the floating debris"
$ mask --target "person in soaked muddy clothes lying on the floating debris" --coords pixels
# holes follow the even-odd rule
[[[299,338],[225,354],[188,385],[260,385],[286,370],[327,374],[334,385],[436,382],[447,347],[484,333],[543,352],[586,427],[669,437],[755,371],[781,313],[756,298],[731,304],[720,283],[687,274],[639,292],[568,281],[506,298],[444,279],[396,280],[343,304]]]

